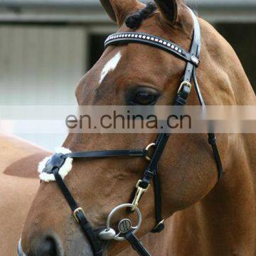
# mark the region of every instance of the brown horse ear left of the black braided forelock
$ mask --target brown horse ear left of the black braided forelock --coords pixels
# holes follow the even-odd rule
[[[100,0],[108,16],[119,26],[124,23],[128,14],[138,11],[144,7],[144,4],[137,0]]]

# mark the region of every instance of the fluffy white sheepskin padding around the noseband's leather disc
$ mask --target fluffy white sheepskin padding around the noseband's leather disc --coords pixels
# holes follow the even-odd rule
[[[70,151],[70,149],[58,147],[55,149],[55,153],[68,154],[68,153],[71,153],[71,151]],[[46,181],[46,182],[55,181],[55,176],[53,174],[46,174],[45,172],[43,172],[43,169],[46,167],[46,163],[48,162],[48,160],[50,158],[51,158],[51,156],[48,156],[38,164],[38,173],[39,173],[39,178],[41,179],[41,181]],[[60,171],[59,171],[59,174],[62,178],[65,178],[65,176],[67,176],[68,173],[71,171],[72,162],[73,162],[73,159],[70,157],[65,159],[65,163],[63,164],[63,166],[60,167]]]

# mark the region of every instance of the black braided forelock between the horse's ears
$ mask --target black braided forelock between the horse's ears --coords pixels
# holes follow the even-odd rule
[[[144,7],[142,10],[127,16],[127,18],[125,19],[126,26],[131,29],[139,28],[139,26],[142,24],[142,21],[154,14],[156,8],[156,4],[147,3],[146,7]]]

